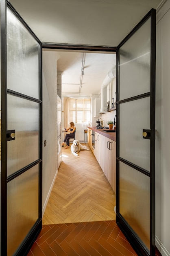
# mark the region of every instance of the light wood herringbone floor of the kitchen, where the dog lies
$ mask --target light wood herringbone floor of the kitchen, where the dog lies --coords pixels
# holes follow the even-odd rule
[[[116,220],[115,193],[92,151],[83,150],[78,154],[76,157],[70,148],[62,148],[63,161],[43,216],[43,225]]]

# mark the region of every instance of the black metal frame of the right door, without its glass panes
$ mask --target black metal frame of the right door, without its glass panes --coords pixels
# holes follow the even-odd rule
[[[119,49],[120,47],[148,20],[151,18],[151,56],[150,56],[150,92],[142,94],[130,99],[125,99],[119,101]],[[116,99],[116,110],[117,110],[117,130],[116,130],[116,141],[119,141],[119,118],[120,118],[120,104],[124,102],[129,102],[135,99],[140,99],[144,97],[150,97],[150,130],[151,130],[151,139],[150,139],[150,173],[139,166],[126,161],[119,157],[119,143],[116,144],[116,223],[120,229],[125,234],[126,238],[129,240],[135,251],[138,255],[149,256],[155,255],[155,64],[156,64],[156,10],[151,9],[146,16],[135,26],[135,28],[124,38],[124,40],[117,47],[117,99]],[[152,114],[151,114],[152,113]],[[126,220],[122,217],[120,213],[120,198],[119,198],[119,162],[124,162],[132,168],[142,172],[144,175],[150,177],[150,252],[146,249],[146,246],[135,234],[133,229],[128,225]]]

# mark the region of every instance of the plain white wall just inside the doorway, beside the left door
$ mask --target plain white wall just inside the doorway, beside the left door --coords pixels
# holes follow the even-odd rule
[[[57,57],[43,51],[43,213],[57,175]]]

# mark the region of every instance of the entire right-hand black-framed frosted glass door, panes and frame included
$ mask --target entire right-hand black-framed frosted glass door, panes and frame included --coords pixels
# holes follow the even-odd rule
[[[118,45],[116,221],[155,255],[155,10]]]

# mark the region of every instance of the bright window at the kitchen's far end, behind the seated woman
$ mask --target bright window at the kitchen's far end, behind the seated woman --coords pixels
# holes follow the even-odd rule
[[[82,124],[91,120],[91,99],[70,99],[69,120]]]

